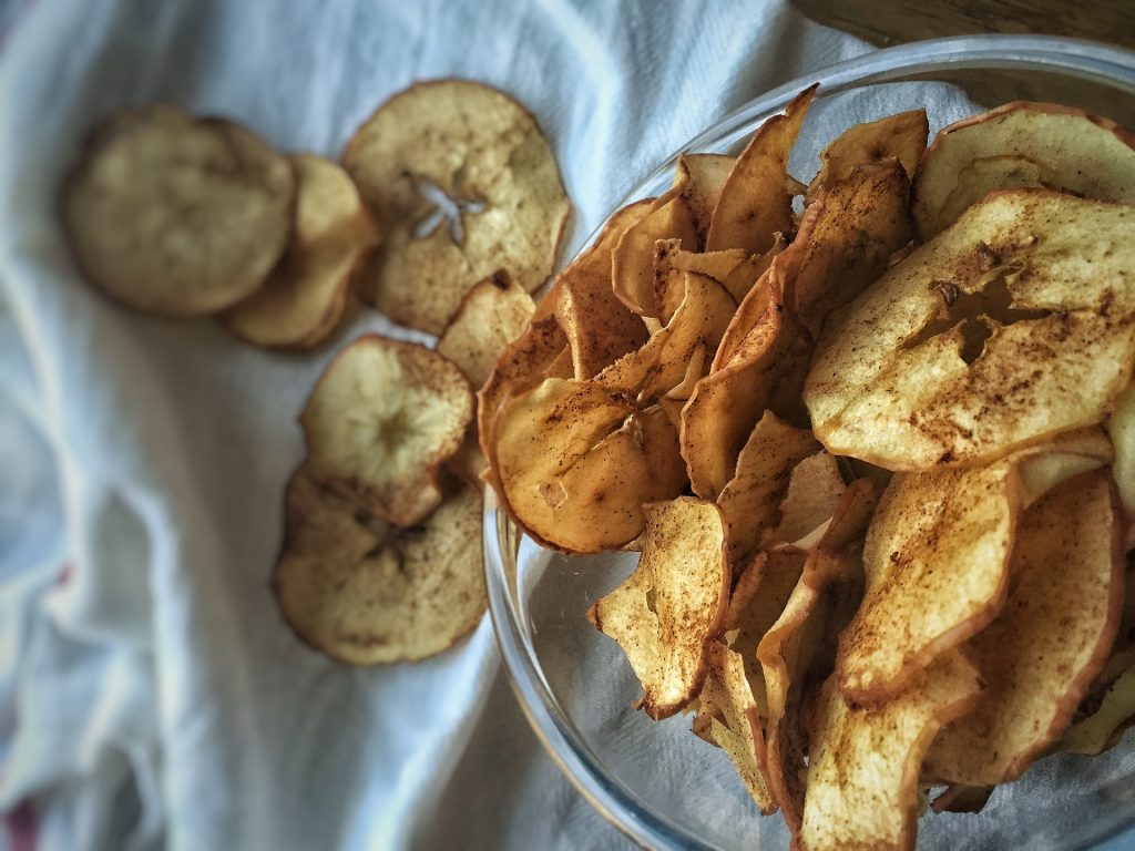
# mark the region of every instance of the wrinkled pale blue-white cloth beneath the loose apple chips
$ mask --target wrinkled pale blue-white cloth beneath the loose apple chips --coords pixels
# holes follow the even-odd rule
[[[418,665],[302,646],[268,578],[295,416],[331,354],[244,346],[87,287],[56,216],[82,134],[162,100],[337,155],[410,83],[538,118],[568,252],[764,90],[866,48],[784,0],[39,0],[0,52],[0,812],[43,849],[604,848],[486,618]],[[404,334],[404,336],[412,336]],[[2,843],[2,840],[0,840]]]

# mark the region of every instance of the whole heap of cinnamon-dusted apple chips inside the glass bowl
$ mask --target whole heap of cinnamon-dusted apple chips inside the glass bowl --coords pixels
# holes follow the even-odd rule
[[[532,539],[640,553],[588,610],[639,709],[796,848],[910,848],[1135,721],[1135,136],[1018,102],[927,148],[905,112],[805,186],[812,96],[609,218],[480,440]]]

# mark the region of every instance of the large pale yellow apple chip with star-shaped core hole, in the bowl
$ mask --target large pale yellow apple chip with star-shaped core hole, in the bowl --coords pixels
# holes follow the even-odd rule
[[[997,193],[830,321],[804,388],[836,455],[973,465],[1101,422],[1135,365],[1135,208]]]

